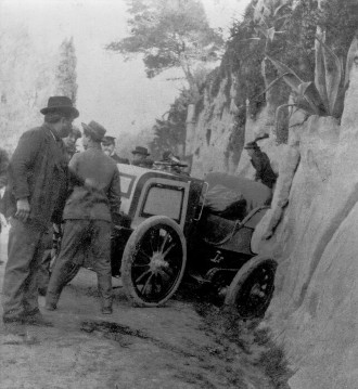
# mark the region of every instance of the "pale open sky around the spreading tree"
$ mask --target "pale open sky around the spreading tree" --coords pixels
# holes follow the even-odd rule
[[[228,27],[250,0],[203,0],[212,27]],[[125,0],[0,0],[1,27],[28,26],[39,52],[73,37],[77,55],[79,121],[101,122],[115,137],[151,128],[183,81],[163,74],[148,79],[140,57],[125,62],[105,44],[128,36]]]

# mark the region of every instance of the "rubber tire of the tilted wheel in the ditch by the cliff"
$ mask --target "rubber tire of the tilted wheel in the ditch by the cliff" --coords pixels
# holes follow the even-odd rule
[[[227,308],[234,309],[236,311],[236,313],[239,314],[239,316],[241,319],[243,319],[243,320],[263,316],[264,313],[266,312],[268,306],[270,304],[271,297],[272,297],[273,290],[274,290],[274,285],[272,285],[272,290],[270,293],[270,295],[271,295],[270,298],[267,300],[267,302],[259,310],[257,310],[255,312],[255,314],[253,314],[251,316],[242,316],[240,314],[238,308],[236,308],[236,298],[240,295],[244,283],[251,276],[253,271],[256,270],[258,267],[260,267],[264,263],[272,267],[273,272],[276,272],[278,263],[277,263],[277,261],[274,259],[269,258],[269,257],[256,256],[256,257],[253,257],[251,260],[248,260],[238,271],[238,273],[235,274],[235,276],[233,277],[231,284],[228,287],[227,295],[226,295],[226,298],[225,298],[225,304],[227,306]],[[273,275],[273,277],[274,277],[274,275]],[[273,280],[273,283],[274,283],[274,280]]]

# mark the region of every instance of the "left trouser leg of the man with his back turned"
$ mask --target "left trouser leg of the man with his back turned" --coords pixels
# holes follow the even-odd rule
[[[63,231],[61,251],[54,262],[50,277],[46,303],[55,306],[60,299],[62,289],[76,276],[81,263],[81,250],[86,235],[88,234],[89,221],[66,220]]]

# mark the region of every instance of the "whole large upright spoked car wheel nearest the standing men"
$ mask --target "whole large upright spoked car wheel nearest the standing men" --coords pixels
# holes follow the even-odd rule
[[[129,300],[140,307],[165,303],[177,290],[187,263],[179,225],[155,216],[130,235],[122,259],[122,281]]]

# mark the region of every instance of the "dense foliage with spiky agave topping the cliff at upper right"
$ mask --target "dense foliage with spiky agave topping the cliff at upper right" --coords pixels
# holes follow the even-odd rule
[[[340,117],[342,68],[358,25],[357,7],[355,0],[323,1],[321,8],[316,0],[253,1],[244,20],[232,26],[227,50],[238,74],[240,104],[247,99],[255,116],[270,88],[283,79],[299,107]],[[324,31],[319,40],[317,28]],[[264,75],[269,86],[265,86]],[[282,98],[282,105],[291,91],[280,85],[274,94]]]

